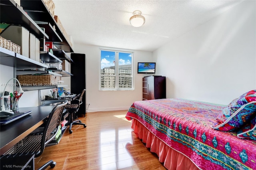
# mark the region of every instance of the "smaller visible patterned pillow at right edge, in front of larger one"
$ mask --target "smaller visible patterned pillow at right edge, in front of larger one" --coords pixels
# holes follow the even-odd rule
[[[250,123],[247,123],[237,132],[238,138],[250,138],[256,140],[256,117],[254,117]]]

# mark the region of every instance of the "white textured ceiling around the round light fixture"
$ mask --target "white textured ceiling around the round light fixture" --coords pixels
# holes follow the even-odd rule
[[[54,0],[74,43],[154,51],[218,16],[238,0]],[[146,18],[135,28],[129,18],[140,10]]]

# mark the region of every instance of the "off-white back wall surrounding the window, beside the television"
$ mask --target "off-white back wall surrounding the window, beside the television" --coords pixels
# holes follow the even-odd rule
[[[152,52],[134,51],[134,90],[133,91],[99,91],[100,47],[76,44],[76,53],[86,54],[86,97],[90,103],[88,112],[126,110],[134,101],[142,100],[142,77],[137,74],[138,62],[152,62]]]

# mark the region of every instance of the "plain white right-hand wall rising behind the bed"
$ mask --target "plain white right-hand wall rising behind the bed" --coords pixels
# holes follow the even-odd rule
[[[255,7],[244,1],[153,52],[167,98],[228,104],[256,89]]]

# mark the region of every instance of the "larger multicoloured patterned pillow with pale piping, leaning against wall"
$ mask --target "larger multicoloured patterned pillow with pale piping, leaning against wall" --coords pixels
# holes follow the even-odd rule
[[[248,123],[256,111],[256,90],[244,93],[234,99],[216,118],[212,128],[224,131],[234,131]]]

